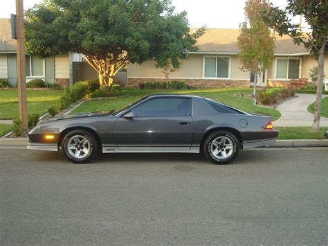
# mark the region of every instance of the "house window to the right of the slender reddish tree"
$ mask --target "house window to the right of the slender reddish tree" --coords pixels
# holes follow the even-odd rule
[[[275,78],[298,79],[300,76],[300,59],[277,59]]]

